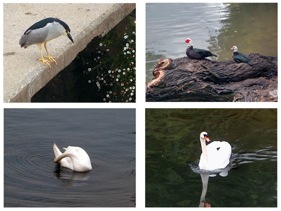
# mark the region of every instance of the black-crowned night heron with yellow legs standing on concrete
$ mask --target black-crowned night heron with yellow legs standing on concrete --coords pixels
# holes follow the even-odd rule
[[[40,49],[42,58],[37,59],[37,61],[42,61],[43,65],[45,65],[46,63],[51,68],[49,63],[52,63],[54,61],[57,64],[57,62],[55,61],[56,57],[52,57],[49,55],[46,43],[61,35],[67,36],[71,40],[71,42],[74,43],[70,35],[70,28],[66,23],[56,18],[45,18],[29,27],[20,38],[19,44],[21,45],[21,48],[27,48],[30,45],[36,44]],[[47,52],[47,56],[43,56],[42,54],[43,43]],[[50,61],[45,60],[44,58],[47,58]]]

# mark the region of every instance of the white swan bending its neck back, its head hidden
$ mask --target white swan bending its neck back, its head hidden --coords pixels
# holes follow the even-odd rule
[[[70,168],[74,171],[84,172],[92,170],[91,161],[86,151],[80,147],[68,146],[64,153],[61,153],[57,145],[54,143],[55,162],[61,166]]]

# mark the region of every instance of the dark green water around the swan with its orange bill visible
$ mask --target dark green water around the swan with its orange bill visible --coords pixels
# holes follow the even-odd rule
[[[146,109],[145,206],[198,207],[199,135],[232,146],[228,176],[210,177],[212,207],[277,207],[277,109]]]

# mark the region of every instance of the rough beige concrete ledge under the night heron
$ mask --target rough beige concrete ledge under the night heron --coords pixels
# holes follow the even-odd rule
[[[5,3],[3,4],[3,100],[30,102],[31,97],[64,69],[96,36],[104,36],[136,7],[135,3]],[[18,44],[32,24],[48,17],[59,18],[69,26],[74,44],[65,37],[47,43],[57,65],[36,61],[37,45],[26,49]],[[42,53],[46,56],[45,48]]]

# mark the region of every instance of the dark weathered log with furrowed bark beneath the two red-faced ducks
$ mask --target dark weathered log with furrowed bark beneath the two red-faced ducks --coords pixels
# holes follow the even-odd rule
[[[160,59],[146,83],[146,101],[277,101],[277,57],[247,55],[254,63],[234,60]],[[270,94],[270,93],[271,94]]]

